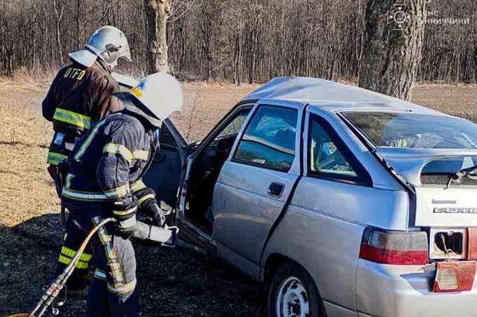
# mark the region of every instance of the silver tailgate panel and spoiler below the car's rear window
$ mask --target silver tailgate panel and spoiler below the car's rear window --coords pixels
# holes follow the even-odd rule
[[[377,153],[415,191],[417,227],[477,227],[477,180],[451,183],[453,173],[476,165],[476,149],[398,149]]]

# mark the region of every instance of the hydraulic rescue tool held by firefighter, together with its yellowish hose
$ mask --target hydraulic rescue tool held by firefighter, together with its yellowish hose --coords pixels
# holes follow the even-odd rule
[[[30,313],[15,313],[13,315],[8,315],[6,317],[40,317],[43,316],[44,313],[46,312],[46,309],[53,304],[53,301],[55,300],[56,297],[58,297],[58,294],[60,291],[63,289],[63,287],[66,284],[66,281],[70,276],[72,275],[74,269],[76,268],[77,263],[79,262],[79,259],[81,258],[81,255],[84,252],[84,249],[86,249],[86,245],[88,245],[89,241],[91,240],[91,237],[93,237],[94,234],[96,234],[96,231],[100,229],[100,227],[103,227],[105,224],[109,222],[117,222],[117,220],[113,217],[106,218],[104,220],[101,220],[98,224],[96,224],[93,229],[89,232],[88,236],[84,239],[83,243],[81,243],[81,246],[78,249],[78,252],[76,255],[74,255],[72,261],[68,266],[65,268],[65,270],[58,276],[58,278],[51,283],[46,291],[44,292],[44,295],[41,297],[39,300],[37,306],[30,312]],[[155,227],[152,225],[148,224],[143,224],[139,222],[138,224],[141,224],[143,226],[148,226],[148,231],[149,232],[148,236],[141,237],[145,239],[146,241],[150,242],[155,242],[155,243],[161,243],[161,245],[167,246],[167,247],[174,247],[178,245],[178,227]],[[53,309],[53,314],[57,315],[58,314],[58,309]]]

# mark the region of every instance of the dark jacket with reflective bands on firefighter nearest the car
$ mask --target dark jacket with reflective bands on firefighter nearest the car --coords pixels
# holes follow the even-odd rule
[[[68,158],[63,205],[108,208],[113,201],[144,189],[141,177],[159,149],[157,134],[148,127],[147,121],[127,110],[98,121]]]

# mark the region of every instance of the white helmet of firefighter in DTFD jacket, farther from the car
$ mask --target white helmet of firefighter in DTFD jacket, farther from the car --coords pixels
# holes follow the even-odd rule
[[[115,65],[119,58],[131,62],[131,51],[126,36],[120,29],[110,25],[100,27],[91,34],[84,50],[78,50],[68,55],[86,67],[91,67],[98,57],[107,65]]]

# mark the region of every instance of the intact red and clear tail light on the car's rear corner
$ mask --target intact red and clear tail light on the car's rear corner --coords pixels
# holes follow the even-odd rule
[[[362,237],[360,258],[383,264],[429,262],[424,231],[384,231],[367,228]]]

